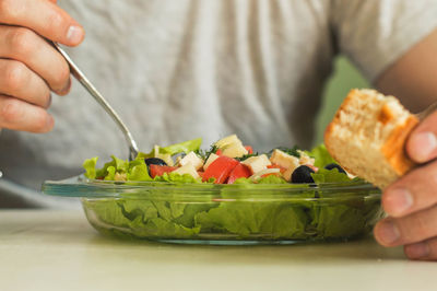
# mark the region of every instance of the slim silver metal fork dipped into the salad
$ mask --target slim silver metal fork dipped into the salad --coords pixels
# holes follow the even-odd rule
[[[129,131],[128,127],[109,105],[109,103],[103,97],[103,95],[97,91],[97,89],[88,81],[85,74],[78,68],[78,66],[71,60],[70,56],[57,44],[51,42],[54,47],[62,55],[70,66],[71,74],[86,89],[86,91],[97,101],[98,104],[105,109],[107,114],[117,124],[118,128],[125,135],[126,141],[129,144],[129,160],[133,161],[138,155],[138,146],[134,141],[132,133]]]

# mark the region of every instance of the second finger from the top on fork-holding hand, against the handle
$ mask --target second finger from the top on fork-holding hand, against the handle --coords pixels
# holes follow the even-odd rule
[[[67,61],[52,46],[28,28],[0,26],[0,57],[25,63],[57,94],[66,94],[69,90],[70,69]],[[2,93],[10,95],[8,92]]]

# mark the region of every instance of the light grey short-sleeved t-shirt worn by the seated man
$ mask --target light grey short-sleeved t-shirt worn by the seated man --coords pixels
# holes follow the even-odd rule
[[[229,133],[259,151],[308,148],[335,55],[375,81],[437,27],[437,0],[58,3],[86,31],[68,51],[143,151],[198,137],[209,144]],[[3,191],[23,196],[16,185],[39,189],[45,179],[78,175],[91,156],[128,156],[123,136],[79,83],[54,98],[50,113],[56,126],[47,135],[1,133]]]

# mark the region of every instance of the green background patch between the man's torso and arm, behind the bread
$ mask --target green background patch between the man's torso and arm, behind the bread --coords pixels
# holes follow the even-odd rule
[[[334,73],[330,78],[324,93],[321,110],[317,118],[317,131],[314,146],[323,141],[323,131],[335,114],[336,108],[354,88],[369,88],[363,74],[344,57],[335,60]]]

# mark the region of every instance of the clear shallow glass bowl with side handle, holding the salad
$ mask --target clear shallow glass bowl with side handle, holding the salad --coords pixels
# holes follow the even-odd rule
[[[83,176],[45,182],[43,191],[81,197],[101,233],[189,244],[290,244],[368,234],[381,193],[347,184],[173,184]]]

